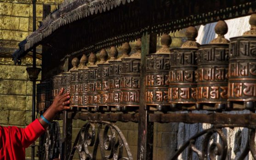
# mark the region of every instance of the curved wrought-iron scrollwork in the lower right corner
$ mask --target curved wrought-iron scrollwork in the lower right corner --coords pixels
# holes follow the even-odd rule
[[[185,149],[188,148],[188,160],[193,159],[193,153],[195,153],[199,160],[216,160],[218,156],[218,160],[226,160],[228,155],[228,143],[225,137],[225,134],[222,132],[222,128],[226,127],[245,127],[245,126],[234,126],[234,125],[218,125],[209,129],[205,129],[204,131],[197,133],[192,138],[190,138],[185,144],[180,147],[176,151],[176,153],[171,157],[171,160],[178,159],[178,156],[182,154]],[[255,148],[255,128],[249,128],[250,131],[248,133],[247,144],[242,154],[238,158],[238,160],[244,160],[245,157],[249,154],[249,151],[252,154],[252,157],[256,160],[256,148]],[[212,137],[214,134],[219,136],[219,141],[212,142]],[[195,146],[195,143],[199,137],[205,136],[202,141],[202,149],[198,149]]]

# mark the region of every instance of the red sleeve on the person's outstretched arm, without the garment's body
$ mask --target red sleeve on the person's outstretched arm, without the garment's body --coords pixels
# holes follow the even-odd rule
[[[45,132],[45,128],[41,125],[38,119],[34,122],[30,123],[26,128],[21,128],[19,130],[19,134],[16,134],[20,141],[20,144],[27,148],[30,144],[32,144],[42,133]]]

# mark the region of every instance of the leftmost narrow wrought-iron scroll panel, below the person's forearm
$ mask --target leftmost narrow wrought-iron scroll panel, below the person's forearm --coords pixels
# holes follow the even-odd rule
[[[43,149],[40,150],[40,160],[52,160],[59,158],[61,155],[62,137],[60,132],[60,126],[57,121],[51,123],[46,129],[46,135],[44,139]]]

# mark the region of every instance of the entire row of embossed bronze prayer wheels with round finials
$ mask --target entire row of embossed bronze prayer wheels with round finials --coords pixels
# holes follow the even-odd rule
[[[72,60],[69,72],[53,77],[52,84],[38,85],[38,107],[51,104],[52,98],[64,87],[71,94],[72,107],[89,110],[127,111],[139,107],[140,73],[145,72],[145,102],[150,109],[169,111],[183,109],[236,110],[255,109],[256,101],[256,14],[249,21],[251,30],[227,40],[225,21],[218,21],[218,35],[210,44],[196,42],[197,30],[188,27],[188,40],[181,48],[172,48],[171,36],[161,37],[162,48],[146,57],[146,70],[140,68],[141,41],[137,52],[129,43],[122,45],[122,56],[113,46],[108,53],[100,52],[100,61],[91,53]],[[108,60],[107,60],[108,59]],[[44,89],[43,89],[44,88]],[[44,92],[45,91],[45,92]],[[52,91],[52,97],[46,92]],[[43,96],[45,97],[43,97]],[[43,99],[45,98],[45,99]],[[49,100],[49,101],[45,101]],[[233,105],[235,104],[235,105]],[[45,105],[45,106],[44,106]]]

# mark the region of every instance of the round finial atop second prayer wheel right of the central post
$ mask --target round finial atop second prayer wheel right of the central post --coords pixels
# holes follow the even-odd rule
[[[188,27],[185,35],[188,37],[188,41],[183,43],[181,48],[198,48],[199,43],[195,39],[198,35],[196,27]]]

